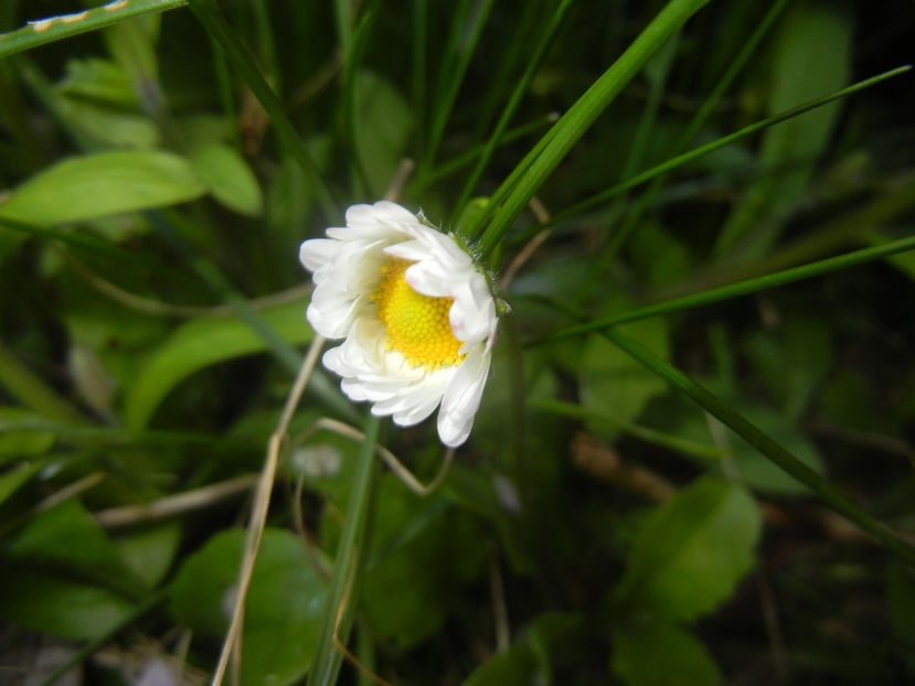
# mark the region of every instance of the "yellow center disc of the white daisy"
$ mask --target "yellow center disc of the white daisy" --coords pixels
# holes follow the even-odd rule
[[[404,278],[413,262],[391,258],[381,267],[381,283],[372,293],[379,318],[387,333],[387,350],[403,353],[414,367],[437,369],[464,360],[458,350],[464,345],[451,333],[448,310],[454,298],[430,298],[417,293]]]

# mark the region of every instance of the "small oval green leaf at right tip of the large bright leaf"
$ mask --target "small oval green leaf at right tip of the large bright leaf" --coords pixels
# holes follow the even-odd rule
[[[260,212],[263,196],[257,179],[233,148],[208,146],[191,156],[191,165],[223,205],[240,214],[256,215]]]

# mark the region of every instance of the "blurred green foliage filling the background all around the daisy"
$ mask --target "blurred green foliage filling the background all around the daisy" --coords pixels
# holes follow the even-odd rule
[[[481,225],[556,112],[668,4],[213,6],[280,110],[184,3],[130,0],[124,20],[85,4],[42,33],[25,22],[81,3],[0,3],[0,682],[89,645],[83,683],[138,683],[97,640],[135,662],[152,643],[198,683],[237,590],[251,483],[237,479],[260,469],[313,339],[299,243],[379,200],[403,158],[416,167],[400,202],[445,229]],[[538,201],[561,215],[911,60],[904,0],[786,4],[710,2],[585,112]],[[534,344],[912,236],[912,79],[563,214],[523,262],[543,216],[512,223],[492,254],[513,276],[511,313],[474,435],[427,497],[380,480],[361,594],[345,598],[361,668],[343,683],[915,679],[909,567],[607,339]],[[911,540],[913,279],[900,254],[620,329]],[[358,444],[311,431],[321,417],[360,414],[318,372],[252,579],[244,685],[304,683],[322,618],[342,612],[326,598]],[[384,446],[424,479],[441,459],[425,425]]]

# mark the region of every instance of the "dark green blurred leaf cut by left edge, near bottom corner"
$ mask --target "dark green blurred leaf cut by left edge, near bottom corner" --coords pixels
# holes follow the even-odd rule
[[[34,569],[0,571],[0,617],[23,629],[64,639],[96,639],[120,624],[132,609],[121,596],[83,581]]]

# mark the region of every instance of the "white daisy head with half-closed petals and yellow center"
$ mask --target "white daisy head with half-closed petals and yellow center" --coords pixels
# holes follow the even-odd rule
[[[328,339],[323,355],[353,400],[401,426],[440,405],[438,436],[467,440],[480,406],[496,302],[488,279],[454,238],[391,202],[353,205],[347,226],[301,244],[313,272],[308,321]]]

